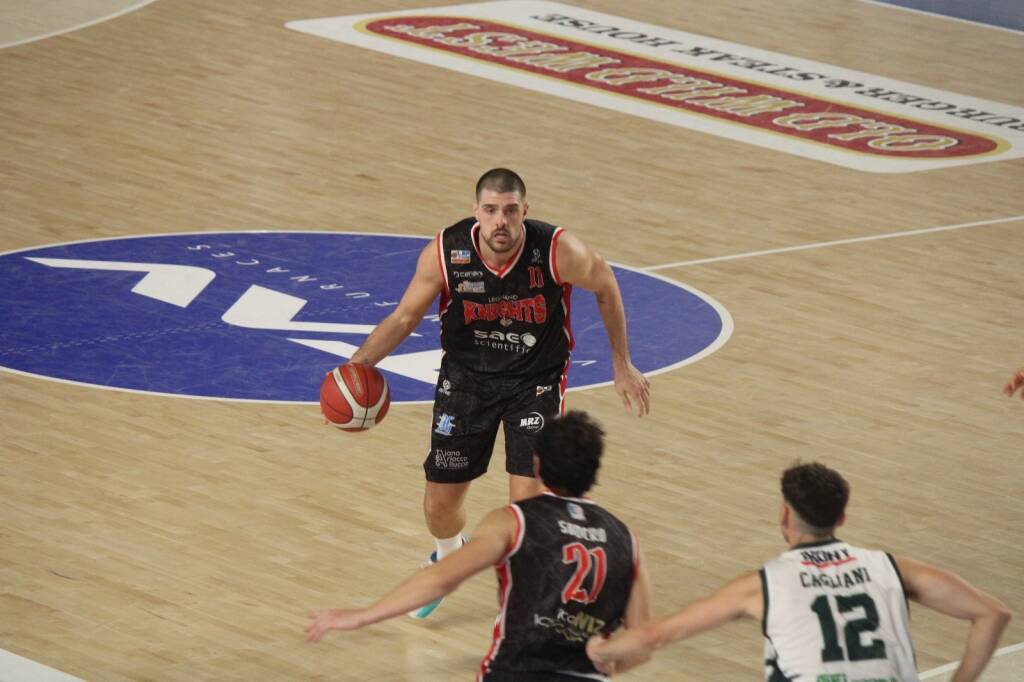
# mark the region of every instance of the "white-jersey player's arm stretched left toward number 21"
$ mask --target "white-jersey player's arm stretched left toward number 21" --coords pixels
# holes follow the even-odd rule
[[[698,599],[668,617],[654,619],[637,629],[616,633],[609,639],[591,639],[587,654],[598,670],[620,672],[620,660],[650,655],[655,649],[712,630],[746,615],[761,617],[764,603],[757,573],[732,581],[710,597]]]

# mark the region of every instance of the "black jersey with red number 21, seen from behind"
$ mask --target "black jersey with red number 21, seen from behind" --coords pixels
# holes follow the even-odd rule
[[[545,493],[509,509],[518,527],[495,566],[501,612],[480,677],[603,680],[587,657],[587,640],[612,632],[626,614],[636,578],[633,534],[589,500]]]

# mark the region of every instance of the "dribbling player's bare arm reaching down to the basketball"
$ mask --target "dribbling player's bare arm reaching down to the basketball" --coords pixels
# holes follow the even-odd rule
[[[423,322],[423,316],[441,293],[443,286],[437,264],[437,243],[432,240],[420,252],[416,272],[398,301],[398,306],[377,325],[359,349],[352,354],[350,361],[377,365],[390,354]]]

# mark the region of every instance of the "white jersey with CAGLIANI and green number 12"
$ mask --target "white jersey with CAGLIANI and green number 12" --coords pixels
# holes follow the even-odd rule
[[[761,569],[769,682],[916,682],[896,562],[839,540],[798,545]]]

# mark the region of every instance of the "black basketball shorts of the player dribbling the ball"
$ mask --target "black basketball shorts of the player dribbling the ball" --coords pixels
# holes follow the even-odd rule
[[[505,425],[505,470],[534,475],[534,443],[562,410],[562,373],[536,380],[474,375],[443,363],[434,397],[427,480],[461,483],[482,476],[490,463],[498,425]]]

